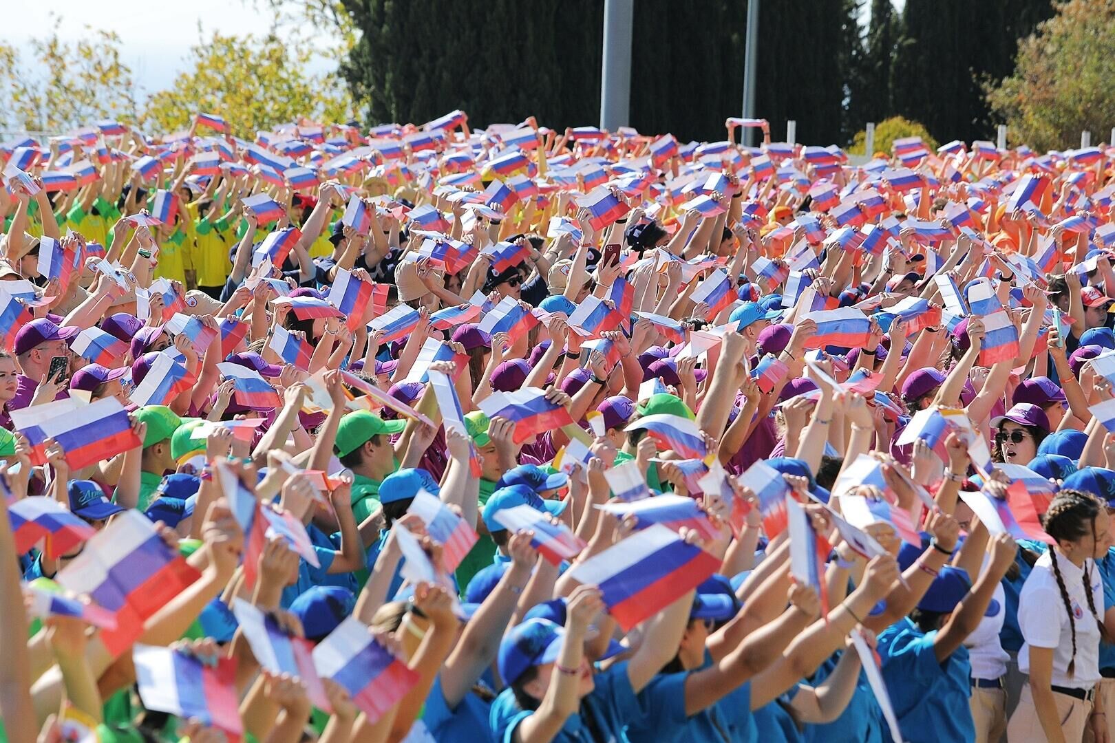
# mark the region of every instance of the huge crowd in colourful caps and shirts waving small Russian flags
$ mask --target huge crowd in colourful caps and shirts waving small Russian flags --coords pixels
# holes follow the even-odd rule
[[[0,144],[0,740],[1112,740],[1115,149],[226,128]]]

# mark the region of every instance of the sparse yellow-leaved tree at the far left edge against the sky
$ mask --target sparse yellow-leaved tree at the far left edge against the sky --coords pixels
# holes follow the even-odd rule
[[[27,53],[0,43],[0,125],[64,131],[98,118],[136,119],[136,85],[120,60],[120,39],[86,27],[78,41],[27,40]],[[31,66],[33,60],[33,67]]]

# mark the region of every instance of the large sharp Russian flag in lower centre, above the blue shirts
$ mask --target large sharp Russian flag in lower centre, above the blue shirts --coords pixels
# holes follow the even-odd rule
[[[603,593],[609,614],[630,632],[716,573],[720,560],[656,524],[581,563],[569,577]]]

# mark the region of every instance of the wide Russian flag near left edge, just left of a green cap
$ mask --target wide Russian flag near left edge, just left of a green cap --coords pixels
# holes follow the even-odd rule
[[[62,401],[58,401],[62,402]],[[66,450],[66,462],[78,470],[140,446],[128,413],[116,398],[88,404],[42,404],[11,411],[12,422],[31,443],[31,461],[46,465],[48,438]]]

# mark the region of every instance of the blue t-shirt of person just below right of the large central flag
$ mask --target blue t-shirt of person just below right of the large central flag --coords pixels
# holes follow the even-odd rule
[[[707,668],[712,656],[705,652]],[[694,671],[658,674],[639,692],[642,714],[628,721],[630,743],[677,741],[757,741],[752,715],[752,685],[745,683],[697,714],[686,716],[686,678]]]

